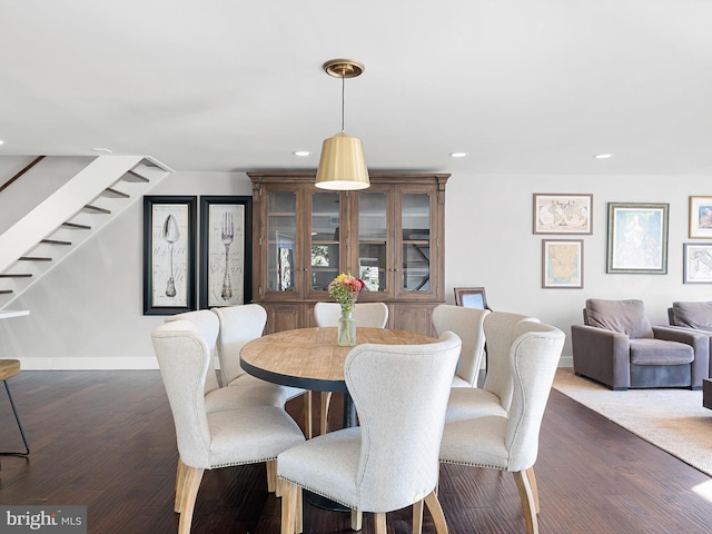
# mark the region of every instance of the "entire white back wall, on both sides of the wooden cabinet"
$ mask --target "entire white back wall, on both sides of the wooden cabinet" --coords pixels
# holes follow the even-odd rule
[[[712,285],[682,284],[689,196],[710,195],[709,177],[458,176],[446,189],[445,283],[485,286],[491,307],[541,318],[570,336],[587,297],[643,298],[655,324],[673,300],[712,300]],[[532,194],[593,194],[593,235],[584,239],[584,288],[542,289],[542,239],[532,234]],[[150,195],[250,195],[245,174],[176,174]],[[606,202],[669,202],[668,275],[606,275]],[[142,315],[142,202],[13,304],[28,317],[0,320],[1,357],[26,369],[156,368]],[[571,345],[562,364],[571,362]]]

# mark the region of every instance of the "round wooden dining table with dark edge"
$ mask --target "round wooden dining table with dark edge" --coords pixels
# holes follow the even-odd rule
[[[243,368],[263,380],[314,392],[343,392],[344,427],[356,414],[344,378],[344,362],[353,347],[337,345],[336,327],[299,328],[268,334],[240,352]],[[386,328],[356,328],[356,344],[424,345],[437,339],[424,334]]]

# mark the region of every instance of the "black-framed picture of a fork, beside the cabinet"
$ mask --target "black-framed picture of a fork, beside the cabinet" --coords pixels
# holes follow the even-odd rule
[[[230,233],[224,235],[227,228],[231,238]],[[201,309],[251,301],[253,197],[200,197],[198,293]]]

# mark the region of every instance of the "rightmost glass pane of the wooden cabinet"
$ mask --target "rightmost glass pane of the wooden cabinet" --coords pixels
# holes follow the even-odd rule
[[[431,196],[403,195],[400,290],[431,290]]]

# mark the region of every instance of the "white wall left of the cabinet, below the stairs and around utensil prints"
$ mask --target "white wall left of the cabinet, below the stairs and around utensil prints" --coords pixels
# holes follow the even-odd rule
[[[149,195],[251,195],[244,174],[182,172]],[[93,239],[12,303],[0,320],[0,357],[24,369],[158,368],[150,343],[161,316],[144,316],[144,204],[137,199]]]

